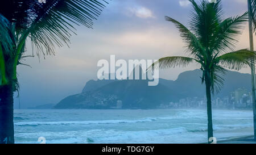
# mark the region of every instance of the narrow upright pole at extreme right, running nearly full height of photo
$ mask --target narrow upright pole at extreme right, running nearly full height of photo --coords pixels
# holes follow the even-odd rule
[[[251,20],[251,0],[247,0],[248,3],[248,11],[249,11],[249,37],[250,37],[250,51],[254,51],[253,45],[253,24]],[[254,124],[254,140],[256,141],[256,94],[255,94],[255,66],[254,60],[251,63],[251,89],[252,89],[252,97],[253,97],[253,124]]]

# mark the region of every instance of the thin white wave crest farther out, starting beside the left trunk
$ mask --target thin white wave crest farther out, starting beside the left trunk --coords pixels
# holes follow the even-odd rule
[[[116,123],[143,123],[152,122],[155,118],[144,118],[136,120],[86,120],[86,121],[70,121],[70,122],[17,122],[14,125],[68,125],[68,124],[116,124]]]

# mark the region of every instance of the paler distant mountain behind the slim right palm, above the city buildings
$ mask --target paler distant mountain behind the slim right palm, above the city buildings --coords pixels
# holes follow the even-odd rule
[[[159,83],[165,86],[175,89],[184,98],[185,97],[204,97],[205,96],[205,85],[201,84],[202,73],[200,69],[187,71],[180,73],[176,81],[168,81],[166,79],[160,79]],[[251,90],[251,75],[242,74],[239,72],[226,72],[224,76],[224,86],[220,93],[214,95],[216,97],[228,96],[231,91],[238,88],[245,88]]]

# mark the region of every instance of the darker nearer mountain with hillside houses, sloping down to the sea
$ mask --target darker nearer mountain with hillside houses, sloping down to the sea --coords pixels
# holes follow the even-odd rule
[[[123,108],[144,109],[156,108],[159,104],[168,104],[171,100],[178,99],[179,95],[174,90],[160,83],[153,87],[148,86],[148,81],[122,80],[69,96],[55,108],[110,108],[115,107],[118,100],[122,100]]]

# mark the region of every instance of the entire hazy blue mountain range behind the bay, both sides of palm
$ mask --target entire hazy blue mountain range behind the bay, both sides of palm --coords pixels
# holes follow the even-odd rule
[[[90,80],[82,93],[71,95],[56,104],[55,108],[102,108],[117,106],[122,108],[156,108],[187,97],[205,96],[205,86],[201,84],[201,70],[181,73],[175,81],[159,79],[159,85],[148,86],[147,80]],[[224,76],[224,87],[214,97],[228,96],[240,87],[251,90],[250,74],[228,71]]]

